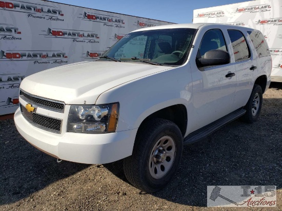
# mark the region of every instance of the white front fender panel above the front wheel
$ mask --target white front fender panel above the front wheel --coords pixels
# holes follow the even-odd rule
[[[96,104],[119,102],[117,131],[132,130],[152,113],[175,104],[192,112],[190,65],[124,83],[101,94]]]

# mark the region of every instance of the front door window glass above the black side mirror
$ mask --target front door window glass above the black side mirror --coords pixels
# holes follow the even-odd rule
[[[207,51],[217,49],[227,51],[223,33],[219,29],[212,29],[205,33],[199,47],[199,53],[204,58]]]

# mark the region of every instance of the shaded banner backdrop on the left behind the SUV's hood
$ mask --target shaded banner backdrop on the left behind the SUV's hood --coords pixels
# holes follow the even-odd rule
[[[18,108],[28,75],[96,60],[128,32],[166,24],[49,1],[0,1],[0,115]]]

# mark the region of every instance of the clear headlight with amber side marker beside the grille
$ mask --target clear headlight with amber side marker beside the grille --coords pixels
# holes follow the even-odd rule
[[[71,106],[68,118],[68,132],[112,133],[118,120],[119,103]]]

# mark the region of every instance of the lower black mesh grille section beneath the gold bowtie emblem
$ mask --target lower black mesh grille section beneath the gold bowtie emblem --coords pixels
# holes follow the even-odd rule
[[[22,104],[19,106],[25,119],[32,125],[53,133],[61,133],[62,119],[54,119],[40,114],[30,113]]]

